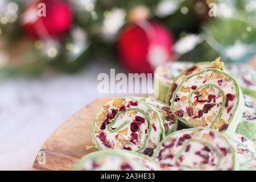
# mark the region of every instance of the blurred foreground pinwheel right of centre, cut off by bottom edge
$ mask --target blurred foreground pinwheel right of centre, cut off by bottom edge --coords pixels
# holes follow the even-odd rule
[[[212,129],[178,130],[156,148],[155,162],[163,170],[237,170],[236,150]]]

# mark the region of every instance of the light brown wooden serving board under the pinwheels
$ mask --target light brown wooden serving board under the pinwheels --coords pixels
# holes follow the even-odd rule
[[[93,118],[100,107],[112,99],[113,97],[108,97],[93,101],[53,131],[36,156],[32,170],[70,170],[82,156],[96,151],[85,148],[93,145]],[[43,157],[46,164],[39,162]]]

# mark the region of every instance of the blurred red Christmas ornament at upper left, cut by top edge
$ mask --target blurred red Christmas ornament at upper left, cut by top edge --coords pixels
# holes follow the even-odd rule
[[[38,11],[46,5],[46,16],[39,16]],[[45,39],[64,34],[72,24],[72,10],[69,3],[61,0],[33,1],[23,11],[22,25],[30,36]]]

